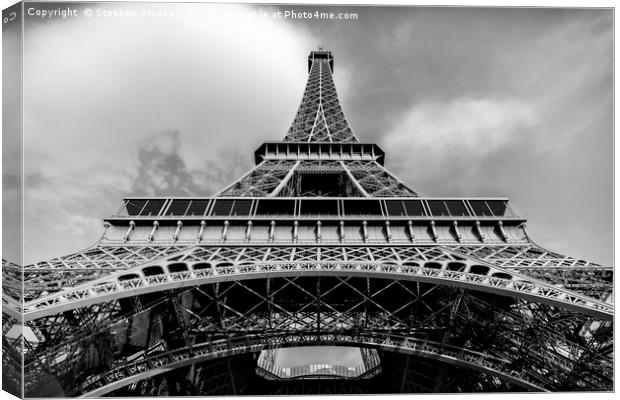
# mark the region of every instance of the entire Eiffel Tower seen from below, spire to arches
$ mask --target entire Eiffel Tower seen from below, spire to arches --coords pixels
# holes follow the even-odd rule
[[[534,243],[506,198],[419,195],[354,135],[331,52],[308,72],[219,193],[127,198],[93,247],[3,262],[5,384],[23,362],[28,397],[613,390],[612,268]],[[312,346],[362,362],[278,364]]]

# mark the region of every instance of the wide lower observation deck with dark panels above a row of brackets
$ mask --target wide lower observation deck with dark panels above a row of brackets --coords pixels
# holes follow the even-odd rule
[[[506,198],[133,197],[102,243],[527,243]]]

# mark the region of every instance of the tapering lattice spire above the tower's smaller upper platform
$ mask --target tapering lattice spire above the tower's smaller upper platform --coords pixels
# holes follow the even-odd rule
[[[290,142],[357,142],[342,112],[332,77],[331,51],[310,52],[304,96],[284,140]]]

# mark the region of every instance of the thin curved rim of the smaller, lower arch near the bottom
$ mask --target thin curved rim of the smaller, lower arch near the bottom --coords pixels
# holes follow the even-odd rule
[[[222,339],[158,354],[145,354],[143,358],[111,369],[91,379],[81,388],[82,397],[103,396],[123,386],[151,378],[177,368],[231,355],[259,352],[276,347],[339,345],[370,347],[384,351],[417,355],[446,363],[472,368],[509,381],[525,390],[545,389],[528,380],[524,371],[511,370],[509,361],[468,351],[442,343],[423,341],[389,334],[308,334],[308,335],[247,335]]]

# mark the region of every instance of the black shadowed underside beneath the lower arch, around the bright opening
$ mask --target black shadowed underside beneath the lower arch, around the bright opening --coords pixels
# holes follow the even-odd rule
[[[371,350],[371,349],[365,349]],[[378,351],[380,373],[364,379],[265,380],[257,372],[256,354],[239,354],[192,364],[115,390],[107,396],[175,395],[312,395],[522,392],[522,387],[483,372],[435,359]]]

